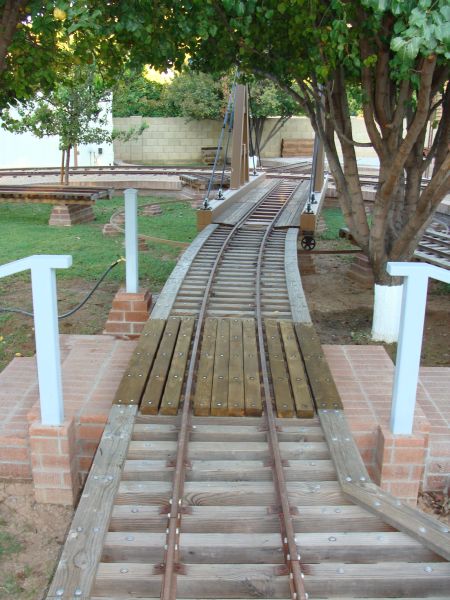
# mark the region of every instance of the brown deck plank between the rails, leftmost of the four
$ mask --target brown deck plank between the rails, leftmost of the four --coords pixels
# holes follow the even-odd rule
[[[207,416],[211,413],[211,393],[216,350],[217,319],[206,319],[203,330],[197,381],[194,396],[194,415]]]

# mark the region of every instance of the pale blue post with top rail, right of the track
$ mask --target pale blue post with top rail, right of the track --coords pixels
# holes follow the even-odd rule
[[[387,272],[405,277],[392,392],[392,433],[410,435],[414,421],[428,278],[450,283],[450,272],[425,263],[388,263]]]

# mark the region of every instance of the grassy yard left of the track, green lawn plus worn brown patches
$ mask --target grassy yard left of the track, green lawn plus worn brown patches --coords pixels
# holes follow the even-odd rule
[[[189,203],[168,198],[143,197],[139,205],[157,203],[162,214],[139,216],[139,233],[160,239],[189,243],[196,236],[196,215]],[[0,265],[31,254],[70,254],[70,269],[57,271],[59,312],[81,301],[94,282],[117,258],[125,254],[124,235],[103,236],[103,225],[123,207],[123,198],[98,201],[96,220],[73,227],[49,227],[52,207],[39,204],[0,204]],[[140,252],[139,274],[142,287],[158,292],[169,277],[182,248],[149,243]],[[100,333],[106,322],[115,291],[125,280],[120,263],[108,275],[86,306],[67,321],[60,322],[66,333]],[[31,310],[29,272],[0,279],[0,307]],[[0,313],[0,371],[16,354],[34,353],[32,320]]]

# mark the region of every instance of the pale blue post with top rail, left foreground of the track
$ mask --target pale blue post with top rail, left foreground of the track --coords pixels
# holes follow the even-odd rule
[[[43,425],[61,425],[64,399],[61,382],[56,269],[72,265],[68,255],[34,255],[0,267],[0,277],[31,269],[34,335]]]

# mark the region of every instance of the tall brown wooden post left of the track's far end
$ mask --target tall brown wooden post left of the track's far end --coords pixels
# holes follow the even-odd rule
[[[233,138],[231,144],[231,182],[230,188],[236,190],[248,182],[248,91],[247,86],[236,86],[234,104]]]

